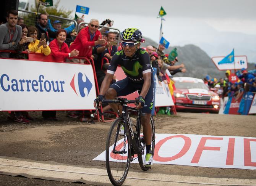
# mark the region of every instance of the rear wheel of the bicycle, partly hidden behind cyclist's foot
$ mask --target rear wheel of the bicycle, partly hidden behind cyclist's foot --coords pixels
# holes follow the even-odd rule
[[[151,142],[151,149],[152,149],[152,156],[154,157],[154,151],[155,151],[155,141],[156,141],[156,133],[155,133],[155,123],[154,123],[154,119],[152,117],[152,115],[150,115],[150,122],[151,122],[151,127],[152,127],[152,142]],[[140,131],[139,134],[140,135]],[[141,145],[143,146],[145,144],[143,137],[141,137]],[[143,165],[143,160],[145,158],[146,153],[144,153],[145,149],[138,154],[138,162],[139,162],[139,166],[141,167],[141,169],[143,171],[147,171],[149,170],[149,167],[144,167]]]

